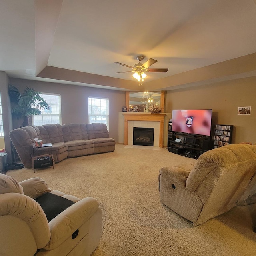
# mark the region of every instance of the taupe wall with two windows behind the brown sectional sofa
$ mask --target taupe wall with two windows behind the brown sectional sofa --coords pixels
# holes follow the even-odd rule
[[[88,123],[88,97],[108,98],[109,135],[118,142],[118,112],[122,111],[122,106],[124,106],[125,92],[16,78],[10,78],[10,84],[20,91],[30,86],[42,93],[60,94],[62,124]],[[19,124],[14,122],[14,126],[18,128]]]

